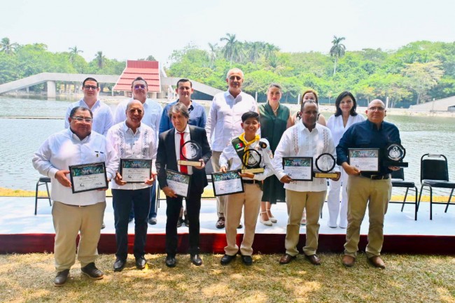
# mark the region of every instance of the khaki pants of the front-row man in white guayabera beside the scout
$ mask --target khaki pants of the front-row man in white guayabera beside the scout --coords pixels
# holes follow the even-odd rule
[[[307,241],[303,248],[305,255],[314,255],[318,249],[319,216],[324,203],[323,192],[296,192],[286,190],[286,206],[288,206],[288,226],[284,246],[288,255],[298,255],[297,244],[300,237],[300,220],[303,209],[307,209]]]

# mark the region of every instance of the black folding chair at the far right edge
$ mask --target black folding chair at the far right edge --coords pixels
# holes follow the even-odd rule
[[[423,188],[428,187],[427,190],[430,191],[430,220],[433,220],[433,204],[446,204],[444,213],[447,213],[455,188],[455,183],[449,181],[447,157],[433,154],[423,155],[420,159],[420,182],[422,185],[420,188],[419,203]],[[433,188],[451,189],[449,201],[433,202]]]

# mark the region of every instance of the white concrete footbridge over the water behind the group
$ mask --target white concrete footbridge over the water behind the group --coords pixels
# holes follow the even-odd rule
[[[22,78],[19,80],[14,80],[8,83],[3,83],[0,85],[0,94],[6,92],[14,92],[16,90],[22,90],[27,87],[38,85],[41,83],[47,83],[48,87],[48,98],[55,98],[55,83],[59,82],[71,82],[71,83],[82,83],[85,78],[92,77],[97,79],[99,83],[117,83],[118,75],[92,75],[92,74],[83,74],[83,73],[38,73],[27,78]],[[174,91],[171,85],[176,85],[177,81],[180,78],[172,78],[161,76],[161,91],[168,92],[169,90]],[[204,94],[209,94],[214,96],[222,90],[218,90],[209,85],[193,81],[193,88]]]

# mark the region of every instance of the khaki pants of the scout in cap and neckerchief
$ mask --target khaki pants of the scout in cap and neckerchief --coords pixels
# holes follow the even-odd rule
[[[237,237],[237,227],[241,218],[241,210],[244,209],[245,232],[244,239],[241,241],[240,253],[242,255],[253,254],[253,241],[258,222],[260,209],[260,199],[262,190],[258,184],[244,184],[245,192],[226,196],[226,241],[228,246],[224,248],[226,255],[236,255],[239,246],[235,241]]]

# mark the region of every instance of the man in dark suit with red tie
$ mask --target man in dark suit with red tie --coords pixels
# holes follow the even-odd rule
[[[207,140],[207,133],[201,127],[188,125],[190,113],[188,108],[180,102],[169,110],[169,119],[174,128],[160,134],[158,143],[158,154],[156,169],[158,171],[158,183],[166,195],[167,221],[166,221],[166,265],[175,267],[177,253],[177,221],[179,220],[180,209],[183,197],[176,195],[176,192],[167,183],[166,169],[179,171],[191,176],[190,189],[186,197],[188,220],[190,221],[190,257],[194,265],[202,265],[199,255],[199,213],[201,209],[201,195],[207,186],[205,164],[211,157],[211,149]],[[177,160],[183,159],[181,146],[184,142],[195,141],[202,149],[202,156],[199,159],[200,166],[178,165]]]

